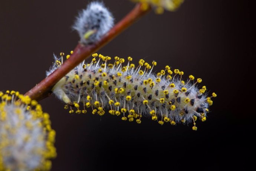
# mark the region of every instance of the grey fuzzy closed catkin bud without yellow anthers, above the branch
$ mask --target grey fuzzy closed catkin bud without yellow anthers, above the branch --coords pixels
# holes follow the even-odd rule
[[[92,44],[101,39],[114,25],[111,12],[101,2],[91,2],[82,10],[73,25],[81,43]]]

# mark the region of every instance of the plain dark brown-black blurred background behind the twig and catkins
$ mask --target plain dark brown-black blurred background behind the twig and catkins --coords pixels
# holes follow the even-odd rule
[[[25,93],[43,79],[53,53],[76,46],[71,26],[87,3],[1,0],[0,90]],[[128,0],[105,4],[116,22],[134,6]],[[255,135],[254,9],[246,0],[186,0],[177,12],[148,14],[102,48],[104,55],[132,56],[136,63],[154,59],[158,71],[168,64],[202,78],[201,85],[218,95],[212,112],[206,122],[197,122],[195,132],[191,124],[161,126],[147,118],[139,125],[109,114],[70,115],[51,96],[41,104],[57,131],[52,170],[135,170],[135,163],[143,170],[248,166],[245,152],[253,149],[249,138]]]

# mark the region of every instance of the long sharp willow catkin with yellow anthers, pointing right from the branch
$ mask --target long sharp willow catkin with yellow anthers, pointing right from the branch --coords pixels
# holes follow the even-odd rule
[[[159,73],[152,73],[155,61],[150,65],[141,59],[136,67],[131,57],[124,64],[125,60],[117,56],[114,63],[108,62],[109,56],[97,53],[92,56],[91,63],[81,63],[52,89],[67,103],[65,109],[70,105],[71,114],[86,113],[86,108],[92,108],[92,114],[102,116],[107,111],[111,115],[122,115],[124,121],[135,120],[139,124],[143,115],[161,125],[193,122],[193,130],[196,130],[195,121],[198,117],[206,121],[208,106],[213,104],[211,98],[217,96],[212,93],[207,97],[206,86],[198,89],[200,78],[190,75],[186,82],[182,80],[184,73],[178,69],[172,71],[165,66]],[[55,56],[55,63],[46,74],[58,68],[60,61]]]

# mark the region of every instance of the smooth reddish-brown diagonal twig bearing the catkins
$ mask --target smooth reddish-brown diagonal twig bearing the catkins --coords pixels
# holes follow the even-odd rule
[[[68,60],[66,60],[58,69],[52,74],[43,79],[34,88],[28,91],[25,95],[30,96],[32,99],[41,100],[51,95],[52,87],[70,70],[75,68],[84,59],[87,59],[92,53],[99,50],[101,47],[110,42],[119,33],[131,26],[136,20],[148,13],[150,9],[142,10],[141,4],[137,4],[127,16],[118,22],[102,39],[94,45],[82,45],[78,43],[74,53]]]

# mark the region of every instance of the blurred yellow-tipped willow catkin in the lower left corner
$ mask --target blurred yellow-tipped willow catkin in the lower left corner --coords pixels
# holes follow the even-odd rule
[[[50,170],[49,159],[56,157],[50,124],[35,100],[0,92],[0,171]]]

